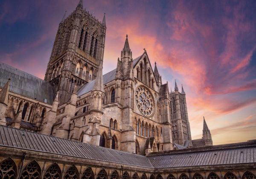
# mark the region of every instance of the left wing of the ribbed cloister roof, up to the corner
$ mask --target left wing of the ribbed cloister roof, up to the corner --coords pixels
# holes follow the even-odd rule
[[[0,126],[0,146],[152,168],[145,156]]]

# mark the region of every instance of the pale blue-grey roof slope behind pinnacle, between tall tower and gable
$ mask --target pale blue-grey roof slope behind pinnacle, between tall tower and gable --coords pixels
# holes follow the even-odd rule
[[[107,84],[109,82],[111,82],[112,80],[114,80],[116,77],[116,69],[113,69],[112,71],[106,73],[105,75],[103,75],[103,84]],[[86,94],[87,92],[90,92],[91,90],[93,90],[93,86],[95,84],[95,80],[90,81],[87,84],[84,84],[78,91],[77,91],[77,96],[81,96]]]

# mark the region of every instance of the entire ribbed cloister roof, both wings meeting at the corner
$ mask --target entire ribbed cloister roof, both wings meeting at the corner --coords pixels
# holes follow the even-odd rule
[[[148,157],[120,150],[0,126],[0,146],[146,168],[256,163],[256,142],[152,153]]]

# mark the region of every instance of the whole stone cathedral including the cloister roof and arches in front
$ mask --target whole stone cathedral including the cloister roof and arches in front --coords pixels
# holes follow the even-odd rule
[[[133,58],[128,35],[102,74],[106,29],[80,0],[44,80],[0,63],[0,179],[255,179],[256,141],[212,146],[204,118],[192,140],[183,86],[145,49]]]

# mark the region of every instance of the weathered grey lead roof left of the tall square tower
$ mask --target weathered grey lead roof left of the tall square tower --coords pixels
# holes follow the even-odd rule
[[[41,102],[47,99],[48,104],[52,104],[54,100],[54,87],[49,82],[23,72],[20,69],[0,62],[0,77],[0,88],[3,88],[8,78],[10,78],[11,92],[32,99],[36,98],[37,101]]]

